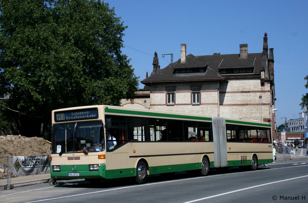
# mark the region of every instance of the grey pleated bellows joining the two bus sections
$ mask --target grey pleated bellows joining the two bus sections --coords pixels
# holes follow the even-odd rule
[[[214,167],[227,166],[227,135],[224,117],[212,117],[214,141]]]

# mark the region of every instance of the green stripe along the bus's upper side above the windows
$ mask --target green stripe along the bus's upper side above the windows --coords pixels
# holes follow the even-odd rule
[[[123,109],[105,108],[105,112],[106,113],[139,115],[139,116],[153,116],[153,117],[181,118],[181,119],[212,121],[211,117],[209,118],[209,117],[200,117],[200,116],[188,116],[188,115],[177,115],[177,114],[168,114],[168,113],[132,111],[132,110],[123,110]],[[266,123],[253,123],[253,122],[249,122],[249,121],[233,121],[233,120],[227,120],[227,119],[226,119],[226,123],[235,123],[235,124],[243,124],[243,125],[258,125],[258,126],[271,127],[270,124],[266,124]]]

